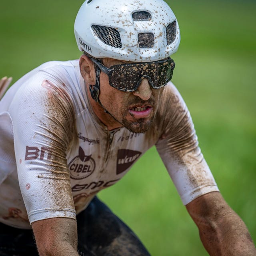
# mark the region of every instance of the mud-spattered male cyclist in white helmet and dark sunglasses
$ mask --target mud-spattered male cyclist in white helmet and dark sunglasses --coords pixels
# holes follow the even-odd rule
[[[255,256],[170,82],[170,7],[86,0],[75,36],[80,60],[42,64],[0,101],[1,255],[149,255],[96,194],[156,145],[209,254]]]

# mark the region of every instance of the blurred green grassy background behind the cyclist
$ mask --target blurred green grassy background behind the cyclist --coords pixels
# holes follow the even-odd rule
[[[48,60],[79,58],[82,0],[2,1],[0,77],[16,81]],[[173,82],[226,201],[256,242],[256,1],[173,0],[181,44]],[[154,256],[208,255],[155,148],[100,198]]]

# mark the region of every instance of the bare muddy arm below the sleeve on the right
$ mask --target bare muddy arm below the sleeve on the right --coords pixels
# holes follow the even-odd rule
[[[186,208],[211,256],[256,256],[246,225],[219,192],[200,196]]]

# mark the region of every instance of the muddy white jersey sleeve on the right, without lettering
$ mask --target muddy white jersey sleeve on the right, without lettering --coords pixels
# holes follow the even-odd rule
[[[166,86],[159,112],[162,134],[156,148],[183,204],[208,192],[218,191],[198,146],[190,112],[173,84]]]

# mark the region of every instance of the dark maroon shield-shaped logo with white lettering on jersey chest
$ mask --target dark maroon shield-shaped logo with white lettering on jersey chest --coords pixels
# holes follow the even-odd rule
[[[116,174],[120,174],[127,170],[141,155],[141,152],[129,150],[129,149],[119,149],[117,153],[116,161]]]

